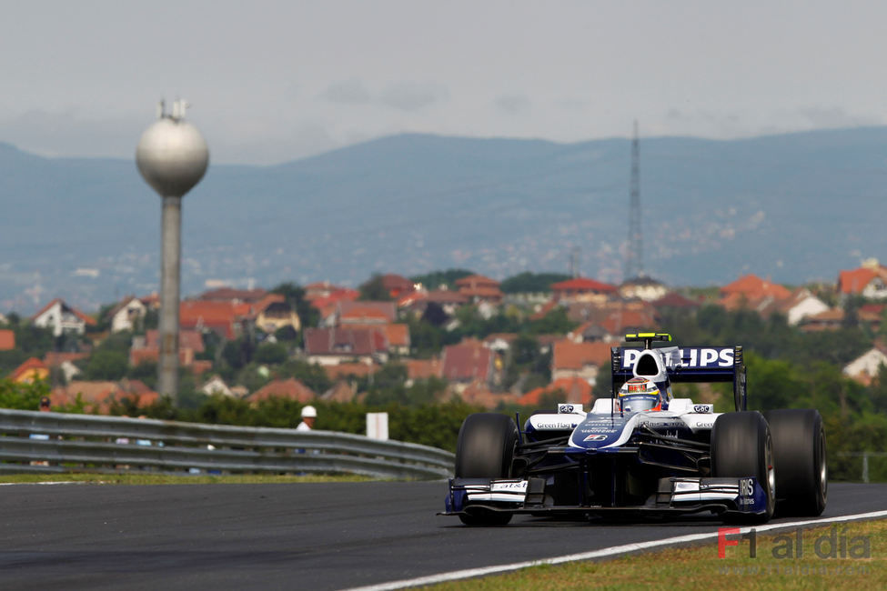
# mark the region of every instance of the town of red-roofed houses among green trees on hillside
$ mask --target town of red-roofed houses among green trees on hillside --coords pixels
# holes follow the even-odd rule
[[[756,275],[675,290],[649,277],[609,285],[527,273],[499,282],[455,270],[373,275],[359,289],[217,288],[180,304],[179,399],[589,404],[609,396],[610,347],[627,332],[670,330],[663,322],[675,314],[719,306],[781,315],[801,333],[852,325],[876,335],[885,300],[887,266],[874,260],[840,271],[833,285],[797,288]],[[131,295],[87,314],[56,298],[34,316],[0,315],[0,377],[45,380],[54,408],[155,404],[158,307],[156,294]],[[873,337],[842,371],[867,385],[884,365],[887,346]]]

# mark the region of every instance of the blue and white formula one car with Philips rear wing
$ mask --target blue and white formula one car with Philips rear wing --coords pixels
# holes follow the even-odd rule
[[[495,413],[465,419],[455,478],[442,515],[498,526],[515,514],[668,516],[711,512],[729,522],[818,516],[828,495],[825,432],[818,411],[746,410],[741,346],[657,346],[661,333],[627,335],[613,347],[612,396],[590,412],[518,421]],[[732,382],[736,412],[674,398],[678,382]]]

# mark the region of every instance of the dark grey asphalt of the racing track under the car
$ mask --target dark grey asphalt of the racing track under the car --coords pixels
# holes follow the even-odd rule
[[[721,525],[472,528],[435,515],[445,494],[444,482],[0,486],[0,588],[342,589]],[[887,485],[832,484],[823,517],[883,509]]]

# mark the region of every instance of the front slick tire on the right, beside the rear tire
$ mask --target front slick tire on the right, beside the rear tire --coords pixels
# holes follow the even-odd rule
[[[730,516],[731,521],[766,523],[776,506],[776,472],[770,427],[758,411],[726,413],[711,429],[712,476],[754,476],[763,487],[766,507],[761,515]]]

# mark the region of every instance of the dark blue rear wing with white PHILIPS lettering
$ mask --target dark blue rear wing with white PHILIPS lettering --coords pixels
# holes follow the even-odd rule
[[[620,386],[634,376],[634,365],[644,350],[643,347],[628,346],[610,349],[613,397]],[[670,346],[651,350],[662,357],[671,382],[732,382],[736,410],[746,409],[746,376],[741,346]]]

